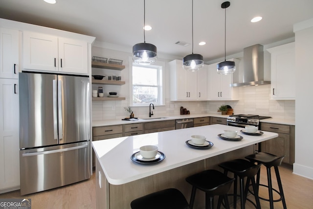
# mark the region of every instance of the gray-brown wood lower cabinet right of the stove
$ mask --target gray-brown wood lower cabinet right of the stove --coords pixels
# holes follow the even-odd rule
[[[283,163],[294,163],[294,126],[261,122],[261,130],[278,134],[278,137],[262,142],[261,151],[285,156]]]

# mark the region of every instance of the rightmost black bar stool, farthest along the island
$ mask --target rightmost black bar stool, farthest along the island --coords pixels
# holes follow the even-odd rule
[[[284,191],[283,191],[283,186],[282,186],[282,182],[281,182],[279,170],[278,170],[278,166],[281,165],[284,157],[285,156],[277,157],[275,155],[272,155],[272,154],[269,154],[266,152],[259,152],[256,154],[246,156],[246,159],[248,159],[249,161],[251,161],[253,163],[258,163],[258,164],[262,163],[266,166],[267,175],[268,175],[268,185],[260,184],[260,171],[259,171],[257,174],[257,187],[258,187],[258,189],[259,189],[259,186],[268,187],[269,199],[265,199],[265,198],[261,198],[261,197],[260,197],[260,199],[268,201],[270,209],[274,208],[274,202],[279,202],[279,201],[282,201],[284,209],[287,209]],[[276,189],[274,189],[272,187],[271,172],[270,172],[271,167],[274,167],[274,169],[275,169],[275,174],[276,174],[276,179],[277,179],[279,191],[277,191]],[[273,190],[279,194],[279,196],[280,196],[279,199],[273,200]]]

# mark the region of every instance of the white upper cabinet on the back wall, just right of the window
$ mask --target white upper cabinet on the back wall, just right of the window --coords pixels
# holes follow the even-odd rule
[[[177,100],[207,99],[207,67],[199,71],[187,71],[182,68],[181,60],[169,62],[170,66],[170,97]]]

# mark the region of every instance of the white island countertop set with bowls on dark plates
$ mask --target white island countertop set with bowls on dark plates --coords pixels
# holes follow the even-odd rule
[[[218,137],[225,129],[236,130],[243,137],[239,141],[228,141]],[[108,182],[121,185],[145,178],[182,165],[194,163],[229,151],[240,149],[261,141],[278,137],[278,134],[264,132],[263,135],[249,136],[240,132],[242,128],[226,125],[208,125],[132,137],[121,137],[92,141],[101,168]],[[191,135],[203,135],[213,142],[210,149],[194,149],[185,143]],[[165,159],[154,164],[140,164],[131,160],[131,156],[143,145],[156,145],[165,154]]]

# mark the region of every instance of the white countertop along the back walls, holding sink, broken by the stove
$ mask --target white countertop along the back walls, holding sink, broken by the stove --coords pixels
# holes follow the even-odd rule
[[[151,119],[141,119],[138,118],[138,120],[131,121],[131,120],[122,120],[122,119],[112,119],[112,120],[97,120],[92,121],[92,127],[97,126],[108,126],[108,125],[122,125],[122,124],[131,124],[131,123],[142,123],[142,122],[152,122],[152,121],[160,121],[160,120],[176,120],[176,119],[184,119],[184,118],[196,118],[196,117],[222,117],[227,118],[229,115],[221,115],[221,114],[191,114],[191,115],[178,115],[178,116],[152,116]],[[154,119],[154,118],[160,118],[165,117],[161,119]],[[148,118],[148,117],[146,117]],[[289,119],[280,119],[280,118],[268,118],[263,119],[261,122],[266,123],[278,123],[278,124],[285,124],[285,125],[295,125],[294,120]]]

